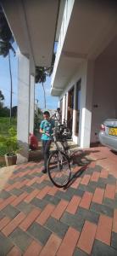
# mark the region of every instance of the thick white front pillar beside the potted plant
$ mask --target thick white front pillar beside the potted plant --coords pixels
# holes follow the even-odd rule
[[[18,118],[17,137],[21,145],[18,163],[28,161],[29,156],[29,127],[30,127],[30,60],[25,55],[18,59]]]

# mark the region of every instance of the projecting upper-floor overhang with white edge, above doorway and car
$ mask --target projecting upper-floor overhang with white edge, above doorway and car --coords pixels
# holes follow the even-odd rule
[[[114,39],[116,14],[115,1],[75,1],[57,69],[53,69],[52,95],[60,96],[81,62],[96,59]]]

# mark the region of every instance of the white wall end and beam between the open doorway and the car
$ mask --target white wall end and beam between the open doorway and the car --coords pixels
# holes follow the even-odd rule
[[[81,109],[79,122],[79,137],[74,134],[75,114],[73,115],[73,141],[81,148],[90,146],[92,122],[92,88],[93,88],[93,61],[82,61],[77,68],[77,73],[70,80],[61,97],[81,79]]]

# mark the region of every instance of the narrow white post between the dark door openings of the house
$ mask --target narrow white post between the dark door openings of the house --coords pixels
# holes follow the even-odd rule
[[[73,125],[72,125],[72,131],[73,131],[73,136],[75,135],[75,126],[76,126],[76,114],[77,114],[77,84],[75,84],[75,87],[74,87],[74,109],[73,109]]]

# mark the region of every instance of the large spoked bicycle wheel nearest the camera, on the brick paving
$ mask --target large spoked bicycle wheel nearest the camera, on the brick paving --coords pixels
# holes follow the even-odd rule
[[[56,150],[50,154],[47,171],[51,181],[58,188],[66,186],[70,181],[70,162],[63,152]]]

